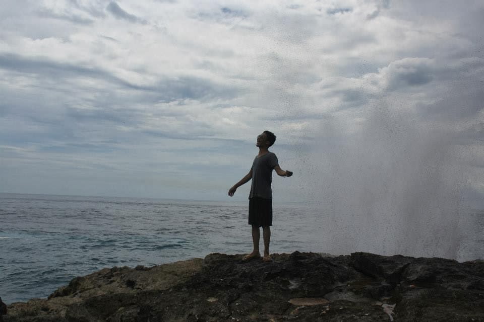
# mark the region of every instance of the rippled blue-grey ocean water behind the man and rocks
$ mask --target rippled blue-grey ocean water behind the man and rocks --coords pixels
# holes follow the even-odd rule
[[[247,207],[248,202],[234,204],[230,199],[0,193],[0,297],[6,303],[47,297],[72,278],[105,267],[248,253],[252,239]],[[484,258],[484,216],[474,216],[478,227],[459,241],[459,260]],[[317,208],[274,202],[271,252],[378,253],[361,243],[346,249],[334,245],[342,240],[338,236],[358,236],[345,227]]]

